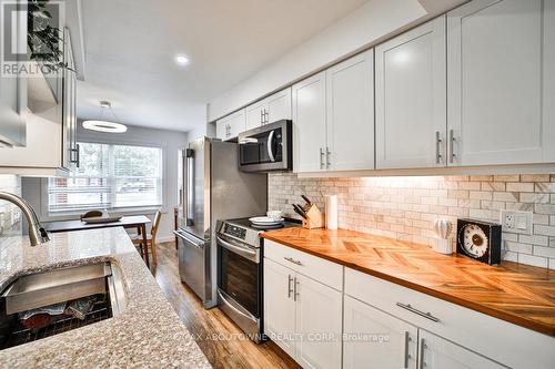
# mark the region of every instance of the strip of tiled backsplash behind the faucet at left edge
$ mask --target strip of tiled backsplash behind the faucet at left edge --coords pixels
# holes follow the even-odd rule
[[[21,180],[10,174],[0,174],[0,192],[21,195]],[[0,199],[0,238],[21,234],[21,211],[13,204]]]

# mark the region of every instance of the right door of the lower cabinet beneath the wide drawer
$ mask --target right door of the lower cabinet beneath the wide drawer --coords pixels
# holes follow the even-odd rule
[[[500,369],[506,368],[440,336],[418,330],[418,368],[427,369]]]

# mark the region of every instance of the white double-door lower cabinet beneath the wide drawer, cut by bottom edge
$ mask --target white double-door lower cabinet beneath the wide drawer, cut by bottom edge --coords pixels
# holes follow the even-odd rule
[[[345,295],[344,369],[505,368]]]

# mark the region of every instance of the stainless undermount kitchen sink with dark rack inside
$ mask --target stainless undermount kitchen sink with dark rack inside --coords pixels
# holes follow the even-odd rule
[[[125,304],[121,271],[111,263],[21,276],[0,294],[0,349],[112,318]]]

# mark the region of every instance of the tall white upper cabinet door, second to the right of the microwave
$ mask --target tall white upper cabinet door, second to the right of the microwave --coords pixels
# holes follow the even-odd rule
[[[326,71],[326,160],[333,171],[374,168],[374,51]]]

